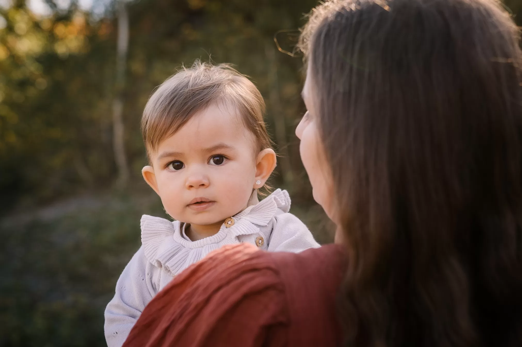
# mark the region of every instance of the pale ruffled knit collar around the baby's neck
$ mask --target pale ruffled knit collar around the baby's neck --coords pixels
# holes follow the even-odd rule
[[[290,196],[286,190],[277,189],[256,205],[232,216],[234,225],[231,227],[223,224],[215,235],[197,241],[183,238],[181,223],[177,220],[143,215],[141,243],[148,261],[174,276],[222,245],[239,243],[238,236],[259,233],[278,210],[290,210]]]

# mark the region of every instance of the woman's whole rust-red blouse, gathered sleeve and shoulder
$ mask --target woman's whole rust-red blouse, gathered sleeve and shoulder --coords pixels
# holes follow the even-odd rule
[[[268,253],[224,246],[145,307],[124,347],[338,346],[342,249]]]

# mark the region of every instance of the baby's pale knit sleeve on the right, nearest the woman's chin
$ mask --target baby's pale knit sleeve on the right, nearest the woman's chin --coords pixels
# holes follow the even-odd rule
[[[320,245],[304,223],[291,213],[275,216],[274,227],[268,241],[269,252],[298,253]]]

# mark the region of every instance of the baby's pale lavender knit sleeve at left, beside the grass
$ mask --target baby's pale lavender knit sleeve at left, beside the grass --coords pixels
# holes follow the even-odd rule
[[[157,293],[158,269],[145,256],[143,246],[134,254],[116,283],[114,298],[105,308],[105,340],[121,347],[141,312]]]

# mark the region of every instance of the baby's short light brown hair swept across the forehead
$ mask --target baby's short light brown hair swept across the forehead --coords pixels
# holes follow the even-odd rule
[[[229,64],[212,65],[196,60],[165,80],[149,98],[141,131],[147,156],[171,137],[198,111],[222,102],[238,111],[244,126],[255,138],[256,153],[271,148],[263,115],[263,96],[245,75]]]

